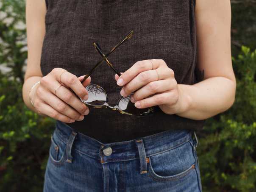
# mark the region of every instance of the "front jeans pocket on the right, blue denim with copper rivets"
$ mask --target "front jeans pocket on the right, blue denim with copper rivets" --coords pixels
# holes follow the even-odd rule
[[[156,181],[174,181],[195,172],[195,158],[189,142],[149,156],[148,169],[151,178]]]

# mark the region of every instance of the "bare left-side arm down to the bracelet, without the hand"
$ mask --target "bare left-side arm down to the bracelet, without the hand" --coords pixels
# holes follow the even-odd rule
[[[40,81],[43,76],[40,69],[40,57],[45,36],[45,13],[45,0],[26,0],[28,64],[22,87],[22,96],[25,105],[35,112],[37,111],[31,105],[28,93],[32,85]]]

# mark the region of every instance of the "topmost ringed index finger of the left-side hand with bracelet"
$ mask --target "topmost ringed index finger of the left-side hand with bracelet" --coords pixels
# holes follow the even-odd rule
[[[88,99],[88,92],[76,75],[62,68],[53,69],[53,75],[57,81],[64,83],[67,87],[71,88],[78,97],[83,100]]]

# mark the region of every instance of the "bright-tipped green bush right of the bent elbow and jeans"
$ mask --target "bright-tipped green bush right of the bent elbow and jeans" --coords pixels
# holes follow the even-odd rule
[[[204,191],[255,192],[256,50],[242,46],[232,58],[237,78],[234,105],[206,121],[198,147]]]

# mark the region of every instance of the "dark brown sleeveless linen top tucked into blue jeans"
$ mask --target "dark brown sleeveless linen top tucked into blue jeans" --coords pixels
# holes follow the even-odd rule
[[[133,36],[108,58],[120,72],[136,61],[163,59],[178,83],[192,85],[196,75],[195,0],[47,0],[46,34],[41,70],[61,67],[85,75],[102,57],[93,42],[108,53],[128,32]],[[91,83],[106,90],[109,104],[121,97],[115,73],[103,61]],[[153,116],[134,117],[90,107],[83,121],[67,124],[101,142],[121,142],[166,130],[200,130],[203,120],[169,115],[156,106]]]

